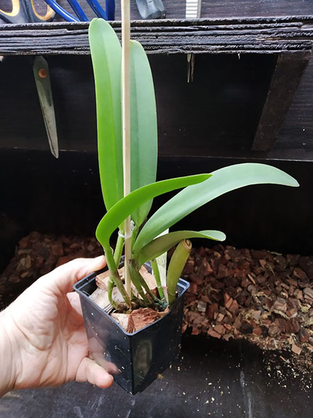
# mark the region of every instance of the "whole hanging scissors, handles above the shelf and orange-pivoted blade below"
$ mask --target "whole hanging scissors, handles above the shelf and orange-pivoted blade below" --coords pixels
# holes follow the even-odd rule
[[[33,0],[12,0],[12,11],[4,12],[0,9],[0,18],[7,23],[38,23],[51,22],[55,16],[54,10],[47,6],[44,16],[40,15],[33,4]],[[42,56],[36,56],[33,63],[35,84],[38,91],[42,116],[45,121],[49,146],[52,155],[58,158],[58,135],[56,132],[56,118],[52,99],[49,66]]]

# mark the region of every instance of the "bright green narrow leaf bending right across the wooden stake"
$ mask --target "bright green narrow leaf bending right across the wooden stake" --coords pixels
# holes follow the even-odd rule
[[[140,189],[134,190],[127,196],[115,203],[115,205],[106,212],[97,226],[97,240],[102,246],[107,245],[113,231],[137,208],[143,203],[153,199],[160,194],[171,192],[175,189],[181,189],[189,185],[195,185],[209,178],[209,174],[198,174],[196,176],[186,176],[179,178],[170,178],[169,180],[158,181],[152,185],[146,185]]]

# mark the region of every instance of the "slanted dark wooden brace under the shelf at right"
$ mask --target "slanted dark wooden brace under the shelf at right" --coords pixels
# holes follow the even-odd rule
[[[310,52],[278,56],[252,150],[268,151],[273,147],[309,60]]]

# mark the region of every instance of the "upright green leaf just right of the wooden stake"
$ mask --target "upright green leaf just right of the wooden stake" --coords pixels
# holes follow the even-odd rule
[[[131,191],[154,183],[157,177],[157,109],[150,64],[141,44],[131,41]],[[152,201],[131,214],[141,226]]]

